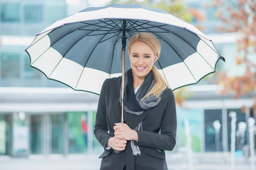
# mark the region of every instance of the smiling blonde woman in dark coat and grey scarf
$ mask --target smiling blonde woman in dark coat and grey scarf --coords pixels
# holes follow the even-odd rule
[[[99,96],[94,134],[105,149],[100,170],[168,170],[164,150],[175,147],[177,119],[175,96],[153,65],[160,43],[152,34],[138,33],[128,52],[124,123],[119,123],[122,77],[106,79]]]

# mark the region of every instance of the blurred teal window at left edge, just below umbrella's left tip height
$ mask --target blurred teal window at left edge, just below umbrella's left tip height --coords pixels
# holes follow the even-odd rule
[[[0,60],[2,78],[20,77],[20,54],[3,52]]]

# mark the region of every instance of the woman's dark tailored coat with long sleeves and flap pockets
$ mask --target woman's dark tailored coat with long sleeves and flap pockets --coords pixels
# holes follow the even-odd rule
[[[105,148],[108,139],[114,136],[114,123],[121,122],[119,102],[122,77],[106,79],[99,96],[94,134]],[[157,106],[137,116],[124,111],[125,123],[134,129],[141,121],[142,129],[137,130],[140,155],[134,156],[131,142],[127,141],[124,151],[116,154],[113,149],[104,150],[100,170],[168,170],[164,150],[173,150],[176,143],[175,96],[167,88]],[[109,131],[109,133],[108,133]],[[159,132],[161,134],[159,134]]]

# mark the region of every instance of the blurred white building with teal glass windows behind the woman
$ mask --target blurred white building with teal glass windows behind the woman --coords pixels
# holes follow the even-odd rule
[[[193,2],[188,5],[201,8],[198,6],[201,1]],[[41,72],[29,67],[29,57],[24,52],[44,28],[87,6],[86,0],[0,0],[0,155],[102,152],[93,135],[99,96],[47,80]],[[209,20],[204,24],[212,28],[219,21],[212,11],[207,12]],[[220,61],[217,69],[228,68],[229,75],[241,74],[245,69],[237,67],[234,58],[237,34],[209,30],[207,35],[227,61],[225,64]],[[177,106],[174,152],[182,152],[186,147],[184,119],[190,123],[194,152],[230,151],[229,113],[236,111],[239,130],[239,123],[253,116],[253,110],[241,113],[241,106],[251,107],[253,100],[250,96],[233,100],[232,94],[218,94],[220,89],[208,78],[187,88],[193,96],[184,103],[185,108]],[[237,150],[248,143],[247,139],[247,130],[237,136]]]

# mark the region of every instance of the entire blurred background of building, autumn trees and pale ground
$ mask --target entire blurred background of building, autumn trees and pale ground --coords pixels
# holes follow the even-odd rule
[[[162,8],[204,32],[226,59],[215,74],[175,91],[177,143],[166,152],[169,169],[231,170],[235,163],[252,170],[255,0],[0,0],[0,170],[99,169],[103,148],[93,134],[99,96],[48,80],[29,67],[24,50],[57,20],[109,3]]]

